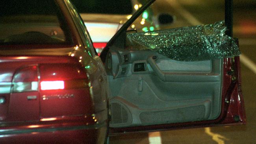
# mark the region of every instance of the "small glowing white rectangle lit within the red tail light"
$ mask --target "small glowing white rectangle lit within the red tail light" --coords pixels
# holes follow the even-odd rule
[[[64,89],[64,81],[42,81],[41,90]]]

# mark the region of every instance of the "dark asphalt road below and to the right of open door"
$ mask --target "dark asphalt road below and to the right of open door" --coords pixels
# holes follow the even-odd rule
[[[167,0],[176,2],[176,0]],[[224,0],[180,0],[179,6],[195,20],[183,18],[187,23],[214,22],[224,19]],[[207,7],[204,8],[204,7]],[[208,11],[212,13],[206,14]],[[180,17],[180,8],[170,10]],[[239,126],[180,129],[156,133],[133,133],[110,138],[111,144],[256,144],[256,2],[234,0],[234,37],[240,40],[242,90],[245,100],[247,124]],[[155,140],[155,141],[154,141]]]

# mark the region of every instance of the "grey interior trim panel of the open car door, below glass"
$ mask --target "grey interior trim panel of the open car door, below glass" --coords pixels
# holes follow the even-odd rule
[[[222,63],[222,59],[174,61],[149,50],[112,48],[106,61],[110,127],[217,118],[221,113]]]

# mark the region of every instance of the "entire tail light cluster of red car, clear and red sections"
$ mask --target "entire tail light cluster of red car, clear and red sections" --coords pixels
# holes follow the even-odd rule
[[[40,78],[40,79],[39,79]],[[40,83],[40,85],[39,85]],[[42,64],[26,66],[15,72],[12,92],[76,89],[87,87],[87,75],[74,64]]]

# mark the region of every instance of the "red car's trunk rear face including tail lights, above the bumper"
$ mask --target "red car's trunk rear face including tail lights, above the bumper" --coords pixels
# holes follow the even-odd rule
[[[87,75],[76,57],[68,56],[72,49],[1,51],[0,122],[91,113]]]

